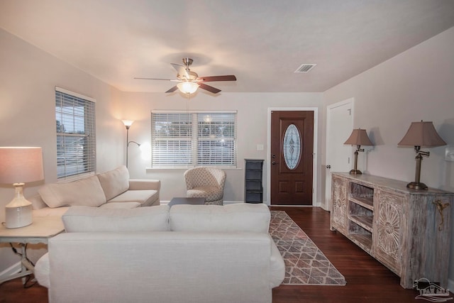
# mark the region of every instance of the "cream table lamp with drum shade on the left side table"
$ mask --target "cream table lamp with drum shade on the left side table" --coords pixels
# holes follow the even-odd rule
[[[13,184],[14,199],[6,205],[6,228],[32,224],[32,204],[23,197],[23,185],[44,179],[43,151],[35,147],[0,147],[0,183]]]

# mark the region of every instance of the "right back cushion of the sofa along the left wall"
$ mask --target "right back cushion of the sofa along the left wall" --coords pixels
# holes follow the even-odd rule
[[[98,174],[98,178],[107,201],[122,192],[126,192],[129,188],[129,172],[124,165],[117,167],[115,170]]]

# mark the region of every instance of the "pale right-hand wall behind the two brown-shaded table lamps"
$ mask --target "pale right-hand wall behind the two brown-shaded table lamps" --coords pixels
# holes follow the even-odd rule
[[[365,128],[375,143],[369,153],[360,155],[365,158],[365,167],[360,170],[414,181],[416,154],[413,148],[397,147],[412,121],[433,121],[444,141],[454,145],[453,54],[454,28],[450,28],[324,92],[326,106],[355,98],[354,127]],[[422,150],[429,150],[431,155],[422,161],[421,182],[454,192],[454,162],[444,160],[445,147]],[[451,215],[453,209],[451,205]],[[451,225],[454,231],[454,218]],[[449,288],[453,289],[454,232],[451,234]],[[448,260],[440,262],[448,266]]]

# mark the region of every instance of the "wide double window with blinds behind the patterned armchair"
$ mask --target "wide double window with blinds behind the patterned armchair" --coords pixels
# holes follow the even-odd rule
[[[152,167],[236,167],[236,111],[153,111]]]

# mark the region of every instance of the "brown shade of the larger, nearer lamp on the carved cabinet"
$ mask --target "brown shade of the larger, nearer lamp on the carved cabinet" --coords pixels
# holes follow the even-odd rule
[[[409,130],[406,131],[398,145],[436,147],[446,145],[446,143],[438,136],[431,121],[421,121],[411,122]]]

